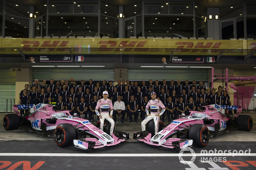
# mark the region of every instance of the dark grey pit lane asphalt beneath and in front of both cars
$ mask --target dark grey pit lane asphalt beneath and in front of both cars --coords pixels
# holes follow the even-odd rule
[[[248,114],[248,113],[246,113]],[[251,115],[256,120],[256,114]],[[1,114],[4,117],[4,114]],[[2,124],[3,120],[0,120]],[[254,123],[255,124],[255,123]],[[140,131],[138,124],[116,124],[116,130]],[[134,130],[135,129],[135,130]],[[131,132],[130,132],[131,133]],[[163,147],[146,145],[134,139],[122,142],[115,146],[103,147],[91,151],[81,150],[75,147],[60,148],[53,138],[45,138],[37,134],[23,130],[5,131],[0,126],[0,169],[232,169],[234,166],[227,166],[221,162],[225,158],[234,161],[231,164],[241,164],[238,169],[255,169],[256,162],[256,128],[251,132],[233,131],[217,138],[210,138],[208,145],[203,150],[217,150],[224,152],[245,151],[250,149],[251,155],[221,156],[221,155],[201,155],[202,148],[191,147],[196,153],[196,157],[184,156],[186,161],[194,160],[192,164],[180,162],[180,151]],[[130,134],[132,137],[132,134]],[[130,138],[131,138],[130,137]],[[248,153],[248,152],[247,152]],[[220,161],[216,161],[216,159]],[[208,160],[205,162],[205,160]],[[215,160],[214,160],[215,159]],[[204,162],[201,162],[204,160]],[[210,160],[210,161],[209,161]],[[21,162],[23,161],[23,162]],[[28,162],[24,162],[28,161]],[[254,161],[250,164],[246,161]],[[23,164],[21,164],[23,163]],[[9,165],[8,165],[9,164]],[[20,165],[21,164],[21,165]],[[8,165],[8,166],[7,166]],[[19,166],[18,166],[19,165]]]

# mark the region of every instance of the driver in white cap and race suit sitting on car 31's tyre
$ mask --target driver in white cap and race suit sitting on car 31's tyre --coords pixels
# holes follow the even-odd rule
[[[95,113],[99,116],[100,119],[100,130],[103,131],[103,125],[104,125],[104,120],[107,119],[108,122],[111,123],[110,127],[110,135],[112,135],[115,122],[112,119],[112,114],[113,114],[113,105],[111,100],[108,99],[108,92],[103,91],[103,99],[100,99],[97,102],[96,108],[95,108]],[[100,108],[100,113],[98,109]],[[110,115],[109,115],[109,110],[110,110]]]

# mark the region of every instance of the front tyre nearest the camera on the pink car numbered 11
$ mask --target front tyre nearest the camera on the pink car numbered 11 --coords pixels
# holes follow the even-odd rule
[[[204,124],[193,124],[188,131],[188,138],[193,140],[193,145],[205,147],[210,138],[209,129]]]

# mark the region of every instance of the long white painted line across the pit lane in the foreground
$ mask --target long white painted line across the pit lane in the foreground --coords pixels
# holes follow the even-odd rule
[[[183,153],[182,156],[191,156],[191,153]],[[243,153],[236,155],[218,153],[194,153],[195,156],[256,156],[256,153]],[[74,156],[74,157],[178,157],[179,153],[0,153],[0,156]]]

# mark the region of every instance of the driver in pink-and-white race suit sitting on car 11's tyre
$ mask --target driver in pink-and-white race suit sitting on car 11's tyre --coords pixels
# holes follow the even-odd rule
[[[151,119],[154,119],[155,133],[157,133],[158,132],[159,117],[164,113],[165,106],[160,100],[156,99],[156,92],[151,92],[151,98],[152,98],[152,100],[149,100],[149,102],[146,106],[147,117],[141,122],[141,129],[142,129],[142,131],[145,131],[146,130],[146,124]],[[150,114],[148,112],[149,107],[150,107]],[[162,110],[160,110],[160,107],[162,108]]]

